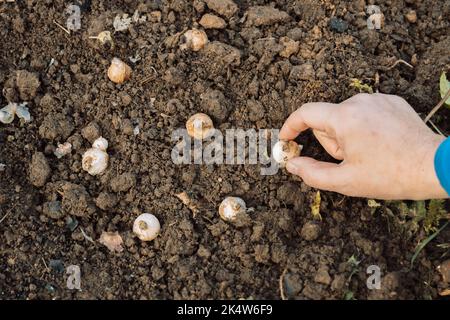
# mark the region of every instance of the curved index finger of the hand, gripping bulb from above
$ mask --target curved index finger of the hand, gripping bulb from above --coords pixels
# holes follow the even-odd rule
[[[286,120],[280,130],[281,140],[292,140],[300,132],[308,128],[324,132],[332,130],[332,114],[336,105],[332,103],[307,103],[294,111]]]

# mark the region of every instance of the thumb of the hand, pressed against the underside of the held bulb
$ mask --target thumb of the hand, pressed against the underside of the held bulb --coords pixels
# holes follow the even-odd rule
[[[286,169],[303,179],[310,187],[345,193],[352,178],[346,164],[317,161],[310,157],[289,160]]]

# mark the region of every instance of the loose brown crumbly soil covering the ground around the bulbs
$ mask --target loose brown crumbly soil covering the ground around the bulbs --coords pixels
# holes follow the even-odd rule
[[[450,1],[377,1],[379,31],[367,28],[364,0],[80,2],[81,30],[70,35],[54,23],[65,26],[66,1],[0,3],[0,106],[26,101],[32,115],[0,124],[1,299],[440,298],[448,284],[437,245],[450,228],[410,270],[426,235],[405,236],[389,203],[373,210],[366,199],[322,192],[317,220],[316,190],[284,171],[175,165],[170,152],[171,133],[194,113],[220,129],[280,128],[303,103],[358,93],[353,78],[401,95],[425,117],[449,70]],[[147,21],[114,33],[114,17],[135,10]],[[202,22],[210,43],[180,50],[179,32],[201,28],[204,14],[220,18]],[[89,39],[104,30],[114,46]],[[120,85],[107,78],[113,57],[133,69]],[[397,59],[414,68],[389,68]],[[445,109],[433,118],[446,134],[449,120]],[[81,157],[100,135],[109,167],[90,176]],[[71,153],[56,158],[66,141]],[[330,159],[312,135],[299,142]],[[253,208],[246,223],[220,219],[229,195]],[[143,212],[161,222],[152,242],[132,233]],[[103,232],[118,232],[123,250],[100,243]],[[81,291],[66,287],[69,265],[81,269]],[[381,269],[381,290],[366,286],[369,265]]]

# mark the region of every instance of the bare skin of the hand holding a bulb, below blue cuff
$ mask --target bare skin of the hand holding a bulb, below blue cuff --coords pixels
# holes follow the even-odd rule
[[[289,116],[279,137],[292,140],[307,129],[341,160],[291,159],[286,169],[311,187],[385,200],[448,197],[434,170],[445,138],[398,96],[358,94],[340,104],[305,104]]]

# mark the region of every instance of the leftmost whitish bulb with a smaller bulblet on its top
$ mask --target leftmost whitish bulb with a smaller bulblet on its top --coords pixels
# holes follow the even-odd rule
[[[83,154],[81,165],[83,170],[87,171],[90,175],[101,175],[108,167],[109,156],[106,153],[108,148],[108,141],[100,137],[94,141],[92,148],[88,149]]]

